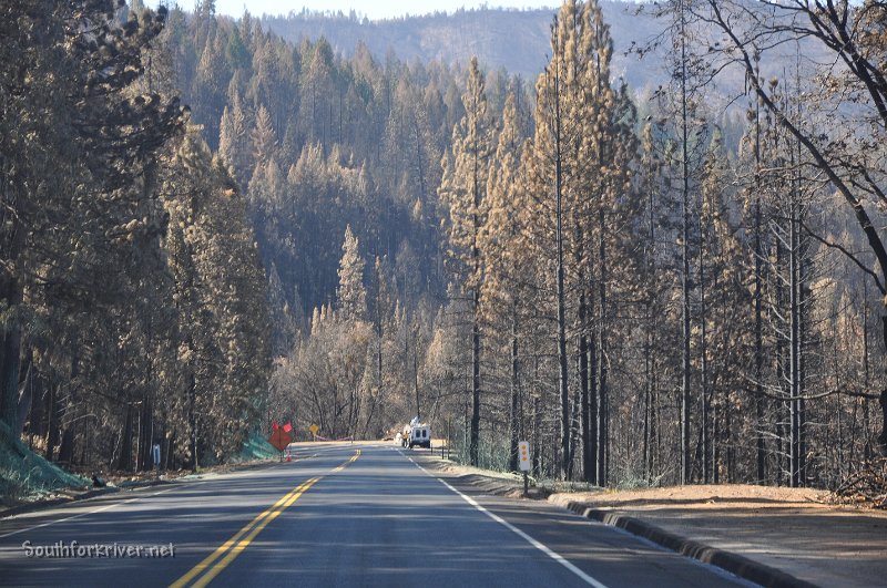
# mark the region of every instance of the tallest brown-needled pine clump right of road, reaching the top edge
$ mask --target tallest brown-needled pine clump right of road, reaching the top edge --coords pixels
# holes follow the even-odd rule
[[[595,2],[564,2],[552,25],[552,58],[537,83],[536,135],[527,168],[537,195],[528,229],[544,244],[557,316],[560,470],[572,474],[581,426],[584,474],[604,483],[608,439],[608,292],[610,257],[622,244],[613,227],[629,212],[636,140],[626,90],[611,86],[612,40]],[[577,322],[579,394],[571,416],[567,321]],[[592,328],[593,327],[593,328]]]

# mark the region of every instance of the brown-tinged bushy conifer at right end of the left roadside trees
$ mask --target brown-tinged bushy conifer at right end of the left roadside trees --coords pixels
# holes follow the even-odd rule
[[[264,412],[271,326],[246,202],[193,131],[176,154],[170,183],[177,187],[165,204],[183,390],[173,409],[186,415],[180,423],[195,468],[207,451],[214,460],[236,452]]]

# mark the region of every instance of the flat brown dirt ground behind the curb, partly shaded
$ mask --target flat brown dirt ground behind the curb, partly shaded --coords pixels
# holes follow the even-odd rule
[[[561,493],[549,501],[579,503],[598,520],[602,513],[641,520],[817,586],[883,586],[887,577],[887,512],[836,504],[826,491],[730,484]]]

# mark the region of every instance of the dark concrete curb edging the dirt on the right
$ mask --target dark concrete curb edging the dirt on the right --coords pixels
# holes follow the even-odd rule
[[[669,533],[639,518],[612,510],[592,508],[584,503],[571,502],[567,505],[567,508],[585,518],[599,520],[612,527],[619,527],[632,535],[638,535],[639,537],[659,544],[666,549],[671,549],[686,557],[692,557],[693,559],[699,559],[705,564],[717,566],[740,578],[751,580],[767,588],[816,588],[816,585],[795,578],[785,571],[753,561],[747,557],[731,551],[725,551],[710,545],[681,537],[680,535]]]

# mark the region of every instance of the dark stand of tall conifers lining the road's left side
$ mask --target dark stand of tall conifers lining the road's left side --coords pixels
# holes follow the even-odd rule
[[[0,8],[4,456],[33,463],[23,432],[71,466],[151,467],[156,442],[165,466],[196,467],[239,451],[264,410],[256,238],[163,65],[166,18]]]

